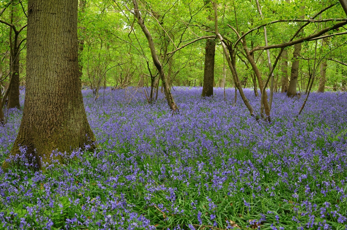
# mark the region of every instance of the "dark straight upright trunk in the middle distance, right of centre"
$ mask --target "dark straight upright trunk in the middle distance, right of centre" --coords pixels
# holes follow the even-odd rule
[[[213,96],[214,85],[214,54],[215,44],[212,40],[206,41],[205,47],[205,67],[204,67],[204,85],[202,87],[203,97]]]

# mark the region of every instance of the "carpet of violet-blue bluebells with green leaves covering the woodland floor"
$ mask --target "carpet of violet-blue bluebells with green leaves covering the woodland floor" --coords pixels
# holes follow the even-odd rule
[[[66,162],[45,171],[23,147],[22,166],[0,168],[0,229],[347,229],[347,94],[312,93],[297,119],[304,98],[274,94],[269,123],[232,88],[201,91],[175,87],[172,115],[161,93],[84,90],[99,147],[53,152]],[[21,116],[0,128],[0,162]]]

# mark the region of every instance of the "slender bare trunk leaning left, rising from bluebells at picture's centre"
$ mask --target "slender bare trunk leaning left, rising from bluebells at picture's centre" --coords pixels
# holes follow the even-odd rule
[[[140,11],[138,10],[138,6],[137,6],[136,0],[133,0],[133,5],[134,5],[135,17],[137,18],[137,22],[141,26],[141,29],[142,29],[143,33],[145,34],[145,36],[147,38],[147,41],[148,41],[148,44],[149,44],[149,47],[150,47],[150,50],[151,50],[151,56],[152,56],[154,65],[155,65],[156,69],[158,70],[159,76],[161,78],[161,82],[163,84],[166,100],[168,101],[170,109],[172,111],[174,111],[174,112],[177,112],[178,111],[178,107],[175,104],[174,97],[172,97],[172,94],[171,94],[171,91],[170,91],[170,87],[169,87],[169,85],[166,82],[166,78],[165,78],[165,75],[164,75],[164,70],[163,70],[163,68],[161,66],[161,63],[160,63],[160,61],[158,59],[158,56],[156,55],[155,47],[154,47],[154,43],[153,43],[153,39],[152,39],[152,35],[148,31],[147,27],[145,26],[145,24],[144,24],[144,22],[142,20]]]

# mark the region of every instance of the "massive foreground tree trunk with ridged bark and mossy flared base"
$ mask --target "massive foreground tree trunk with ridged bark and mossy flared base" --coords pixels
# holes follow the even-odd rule
[[[39,168],[52,150],[70,152],[95,140],[78,77],[77,9],[77,0],[28,1],[24,111],[10,154],[26,146]]]

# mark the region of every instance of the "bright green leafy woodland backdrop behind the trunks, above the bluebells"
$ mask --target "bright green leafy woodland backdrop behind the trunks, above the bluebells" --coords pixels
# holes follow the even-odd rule
[[[218,30],[227,41],[226,44],[232,46],[238,40],[237,34],[241,35],[253,29],[246,36],[248,49],[252,50],[265,45],[265,27],[262,25],[266,25],[269,45],[282,44],[288,42],[300,26],[326,7],[329,9],[316,15],[311,23],[307,23],[308,25],[299,31],[296,39],[331,27],[337,24],[336,20],[343,22],[346,14],[337,3],[304,0],[258,3],[219,1],[216,3]],[[3,10],[0,17],[0,84],[2,96],[5,96],[5,89],[9,85],[12,73],[18,76],[14,86],[21,86],[20,89],[25,86],[27,3],[2,1],[0,4],[8,5],[8,10]],[[145,92],[146,97],[152,100],[152,97],[155,97],[155,89],[161,84],[146,36],[129,7],[132,8],[132,4],[121,1],[79,1],[80,76],[82,87],[92,88],[95,99],[98,98],[102,86],[116,89],[152,85],[154,92]],[[207,49],[209,41],[215,44],[213,85],[235,85],[228,62],[223,55],[221,40],[215,35],[214,9],[209,1],[141,1],[138,7],[153,37],[157,56],[170,86],[203,86],[205,48]],[[281,22],[270,23],[279,20]],[[293,71],[297,77],[295,93],[307,92],[313,76],[313,90],[346,91],[346,35],[343,35],[345,32],[346,29],[342,25],[324,33],[325,39],[300,43],[301,50],[298,45],[285,47],[279,64],[273,70],[273,91],[287,92]],[[333,34],[340,36],[332,36]],[[234,49],[229,49],[230,51],[234,52],[235,69],[242,86],[259,87],[260,85],[256,86],[256,71],[241,42],[238,42]],[[269,51],[271,64],[276,61],[279,48]],[[251,55],[259,69],[262,82],[266,82],[271,69],[266,51],[254,51]],[[298,65],[297,70],[293,70],[293,63]],[[270,85],[268,84],[268,87]],[[19,108],[19,100],[11,102],[10,95],[11,93],[9,108]]]

